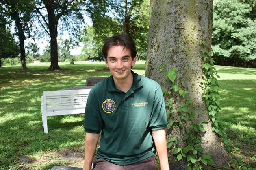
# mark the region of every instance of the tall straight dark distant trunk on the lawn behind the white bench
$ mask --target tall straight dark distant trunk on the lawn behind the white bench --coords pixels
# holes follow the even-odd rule
[[[60,16],[54,14],[54,7],[51,0],[44,0],[45,7],[48,13],[48,29],[50,32],[50,46],[51,46],[51,65],[49,70],[61,69],[58,65],[58,44],[57,44],[57,26]]]

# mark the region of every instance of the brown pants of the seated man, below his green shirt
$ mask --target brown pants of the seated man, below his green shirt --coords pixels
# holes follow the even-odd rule
[[[158,170],[154,156],[130,165],[116,165],[104,159],[93,158],[93,170]]]

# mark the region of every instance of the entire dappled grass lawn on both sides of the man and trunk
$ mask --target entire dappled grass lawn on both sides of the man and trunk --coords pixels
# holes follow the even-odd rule
[[[0,68],[0,170],[46,170],[53,166],[83,166],[83,114],[48,117],[43,132],[43,91],[83,86],[87,77],[106,77],[104,62],[62,63]],[[256,69],[216,66],[223,121],[234,156],[256,168]],[[145,74],[145,62],[135,73]]]

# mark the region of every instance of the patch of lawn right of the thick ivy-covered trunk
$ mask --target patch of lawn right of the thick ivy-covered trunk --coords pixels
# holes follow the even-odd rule
[[[232,153],[256,169],[256,69],[224,66],[216,69],[220,76],[221,113]]]

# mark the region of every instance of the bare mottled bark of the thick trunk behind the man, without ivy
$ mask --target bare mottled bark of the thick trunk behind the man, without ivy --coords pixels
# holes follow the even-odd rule
[[[194,101],[195,122],[209,122],[202,134],[204,154],[210,155],[216,166],[228,167],[229,157],[224,150],[219,137],[212,132],[208,110],[202,99],[202,37],[208,38],[206,43],[211,46],[213,0],[151,0],[150,27],[146,62],[146,77],[156,80],[163,90],[170,88],[170,81],[165,74],[167,69],[176,68],[176,82],[179,87],[190,91],[189,96]],[[165,69],[159,73],[161,63],[166,63]],[[184,99],[180,95],[171,94],[175,101],[174,117],[178,117],[178,107]],[[171,118],[168,118],[171,119]],[[185,125],[189,127],[189,124]],[[178,145],[183,146],[181,128],[167,130],[168,138],[180,139]],[[184,170],[187,160],[177,162],[176,155],[169,151],[169,166],[173,170]]]

